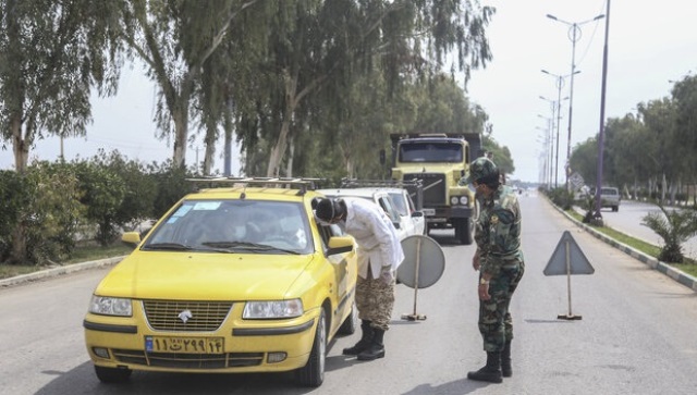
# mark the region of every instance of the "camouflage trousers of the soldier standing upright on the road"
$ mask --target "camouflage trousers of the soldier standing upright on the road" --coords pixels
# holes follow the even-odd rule
[[[501,351],[513,338],[513,320],[509,305],[518,286],[525,263],[516,261],[501,269],[498,276],[489,282],[489,300],[479,300],[479,332],[484,338],[485,351]]]

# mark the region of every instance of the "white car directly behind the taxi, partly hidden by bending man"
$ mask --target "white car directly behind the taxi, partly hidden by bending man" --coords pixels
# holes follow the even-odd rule
[[[331,198],[362,198],[371,200],[380,206],[392,220],[400,240],[415,234],[423,235],[425,232],[424,213],[415,210],[414,202],[404,189],[360,187],[318,189],[318,192]],[[402,192],[405,195],[403,195]],[[411,210],[414,211],[411,212]]]

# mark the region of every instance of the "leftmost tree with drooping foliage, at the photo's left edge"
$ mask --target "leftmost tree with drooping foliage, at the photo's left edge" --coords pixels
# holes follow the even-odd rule
[[[124,1],[0,2],[0,131],[23,173],[37,139],[82,136],[94,86],[115,91]]]

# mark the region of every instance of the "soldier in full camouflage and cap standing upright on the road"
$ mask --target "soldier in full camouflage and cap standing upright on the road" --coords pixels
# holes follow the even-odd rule
[[[476,190],[481,208],[476,225],[477,251],[472,260],[479,271],[479,332],[487,365],[467,378],[492,383],[513,375],[511,340],[513,322],[509,306],[525,272],[521,250],[521,208],[517,195],[500,184],[499,170],[488,158],[477,158],[469,174],[460,181]]]

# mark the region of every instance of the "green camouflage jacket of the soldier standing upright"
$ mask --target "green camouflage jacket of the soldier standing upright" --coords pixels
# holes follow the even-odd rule
[[[497,276],[502,268],[523,261],[521,208],[517,195],[505,185],[491,197],[480,199],[479,203],[481,212],[475,242],[479,249],[480,271]]]

